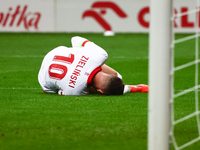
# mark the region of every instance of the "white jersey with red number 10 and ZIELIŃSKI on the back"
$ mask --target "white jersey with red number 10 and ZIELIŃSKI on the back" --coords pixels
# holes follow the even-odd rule
[[[46,93],[85,95],[107,57],[106,51],[93,42],[87,42],[81,48],[59,46],[44,57],[38,74],[39,83]]]

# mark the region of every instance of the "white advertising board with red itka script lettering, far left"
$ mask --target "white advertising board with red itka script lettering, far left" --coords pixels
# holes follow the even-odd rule
[[[0,31],[54,31],[54,0],[0,0]]]

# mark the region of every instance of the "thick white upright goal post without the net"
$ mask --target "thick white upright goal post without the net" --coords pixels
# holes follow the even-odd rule
[[[172,0],[150,2],[148,150],[169,150]]]

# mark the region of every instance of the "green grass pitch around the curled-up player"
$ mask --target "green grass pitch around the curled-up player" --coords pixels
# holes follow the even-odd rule
[[[147,149],[147,93],[59,96],[42,92],[37,75],[43,57],[57,46],[71,47],[70,39],[75,35],[104,48],[109,55],[106,64],[123,76],[124,83],[148,84],[148,34],[104,37],[79,33],[0,33],[1,150]],[[194,59],[194,40],[178,44],[176,56],[175,65]],[[193,86],[194,66],[175,74],[175,93]],[[193,112],[194,93],[177,98],[175,106],[176,119]],[[175,135],[180,145],[196,138],[195,118],[177,125]],[[200,142],[186,149],[199,150]]]

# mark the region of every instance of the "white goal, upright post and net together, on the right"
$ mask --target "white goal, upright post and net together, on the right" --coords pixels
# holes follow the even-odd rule
[[[172,0],[151,0],[149,150],[181,150],[200,142],[200,0],[194,1],[193,9],[177,13]],[[175,20],[188,15],[195,18],[195,33],[175,36]]]

